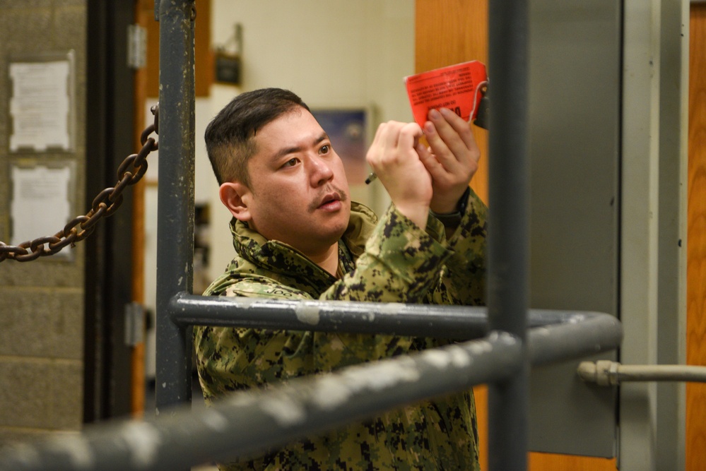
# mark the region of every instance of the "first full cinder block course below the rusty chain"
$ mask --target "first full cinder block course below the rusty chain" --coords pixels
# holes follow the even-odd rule
[[[0,287],[0,357],[4,355],[83,359],[83,292]]]

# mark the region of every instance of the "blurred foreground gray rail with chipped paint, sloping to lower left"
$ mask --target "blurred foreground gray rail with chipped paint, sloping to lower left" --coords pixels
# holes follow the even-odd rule
[[[580,316],[579,322],[534,328],[537,338],[530,333],[529,340],[541,342],[529,348],[532,361],[582,356],[619,344],[615,318]],[[524,367],[524,350],[514,335],[491,332],[481,340],[236,393],[205,411],[194,413],[182,405],[155,419],[110,422],[82,434],[23,443],[0,455],[0,470],[171,471],[242,457],[404,404],[514,377]]]

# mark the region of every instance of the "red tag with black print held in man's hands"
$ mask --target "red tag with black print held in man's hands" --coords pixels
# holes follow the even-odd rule
[[[476,117],[478,103],[483,97],[477,90],[487,81],[486,66],[478,61],[405,77],[414,121],[424,126],[429,110],[439,108],[448,108],[466,121],[471,121]]]

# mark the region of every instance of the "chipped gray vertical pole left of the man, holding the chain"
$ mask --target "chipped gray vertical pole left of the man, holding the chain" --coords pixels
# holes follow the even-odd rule
[[[159,0],[158,0],[159,1]],[[194,258],[194,0],[160,2],[156,405],[191,400],[191,328],[169,302],[192,291]]]

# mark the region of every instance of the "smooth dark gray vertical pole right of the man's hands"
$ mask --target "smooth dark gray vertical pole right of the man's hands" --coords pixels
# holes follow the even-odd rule
[[[490,0],[488,320],[491,330],[522,340],[529,304],[528,31],[528,0]],[[489,385],[491,471],[526,470],[528,374],[525,360],[517,376]]]

